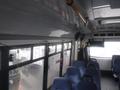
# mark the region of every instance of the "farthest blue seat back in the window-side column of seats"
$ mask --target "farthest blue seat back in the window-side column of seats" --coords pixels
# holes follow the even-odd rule
[[[85,65],[84,61],[75,61],[75,62],[73,62],[72,66],[79,69],[81,77],[84,76],[84,74],[86,72],[86,65]]]

